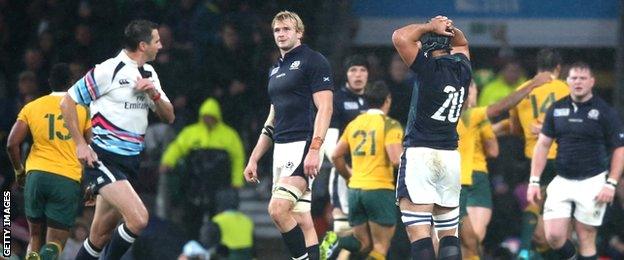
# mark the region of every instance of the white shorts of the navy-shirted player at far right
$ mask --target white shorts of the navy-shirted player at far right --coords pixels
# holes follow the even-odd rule
[[[546,188],[544,219],[570,218],[574,204],[574,219],[586,225],[600,226],[607,205],[596,203],[595,198],[604,187],[606,174],[603,172],[583,180],[557,175]]]

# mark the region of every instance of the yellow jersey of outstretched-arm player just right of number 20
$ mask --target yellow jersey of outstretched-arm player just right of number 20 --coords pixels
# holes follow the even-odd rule
[[[461,158],[461,184],[472,185],[472,171],[474,169],[474,153],[479,128],[489,124],[486,107],[469,108],[461,116],[457,124],[459,135],[458,150]]]

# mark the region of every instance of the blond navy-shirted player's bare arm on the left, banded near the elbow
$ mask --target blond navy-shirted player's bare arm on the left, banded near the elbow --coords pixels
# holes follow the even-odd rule
[[[264,128],[262,128],[262,133],[258,138],[258,142],[256,142],[256,146],[254,147],[251,155],[249,156],[249,161],[247,162],[247,166],[244,170],[245,180],[251,183],[258,183],[258,161],[260,158],[271,148],[273,145],[273,126],[274,126],[274,118],[275,118],[275,109],[273,105],[269,108],[269,115],[267,116],[267,120],[264,122]]]

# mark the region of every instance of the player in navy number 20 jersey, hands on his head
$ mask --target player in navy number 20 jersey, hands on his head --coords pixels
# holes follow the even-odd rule
[[[445,16],[394,31],[392,42],[416,74],[397,180],[397,201],[412,259],[461,259],[457,121],[471,81],[468,41]]]

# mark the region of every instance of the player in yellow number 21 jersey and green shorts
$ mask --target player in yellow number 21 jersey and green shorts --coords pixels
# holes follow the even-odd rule
[[[386,116],[390,90],[376,82],[364,90],[369,110],[356,117],[343,132],[332,159],[349,187],[349,224],[353,235],[337,238],[329,232],[321,245],[321,259],[333,259],[340,249],[367,259],[385,259],[394,234],[396,204],[393,168],[403,146],[401,124]],[[351,156],[351,167],[345,155]]]

